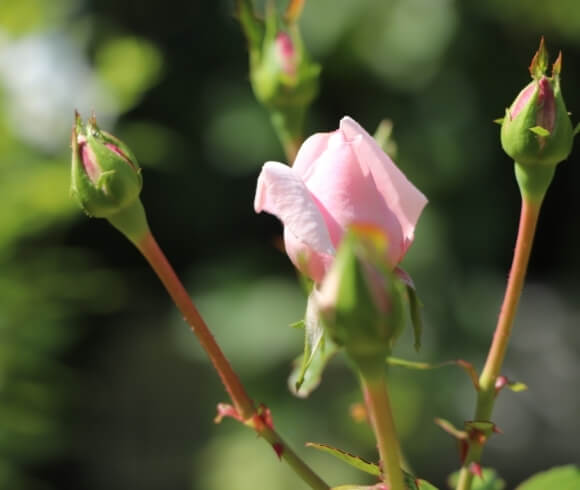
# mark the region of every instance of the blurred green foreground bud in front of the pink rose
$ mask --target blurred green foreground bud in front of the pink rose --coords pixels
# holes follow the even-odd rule
[[[327,333],[357,363],[387,356],[404,326],[405,288],[386,246],[382,231],[351,227],[316,297]]]

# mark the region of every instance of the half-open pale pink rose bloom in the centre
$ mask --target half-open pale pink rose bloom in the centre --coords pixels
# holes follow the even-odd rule
[[[337,131],[308,138],[292,167],[264,164],[254,209],[282,221],[288,256],[320,283],[351,224],[380,229],[389,242],[385,259],[395,267],[426,203],[376,141],[344,117]]]

